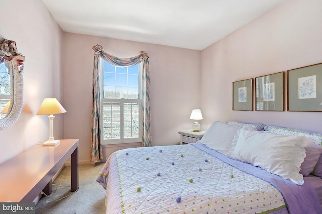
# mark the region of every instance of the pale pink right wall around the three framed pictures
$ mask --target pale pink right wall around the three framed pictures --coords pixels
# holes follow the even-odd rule
[[[238,120],[322,132],[321,112],[258,112],[255,102],[254,111],[232,110],[232,82],[322,63],[321,11],[320,0],[286,0],[204,49],[202,128],[216,120]],[[286,91],[285,81],[285,100]]]

